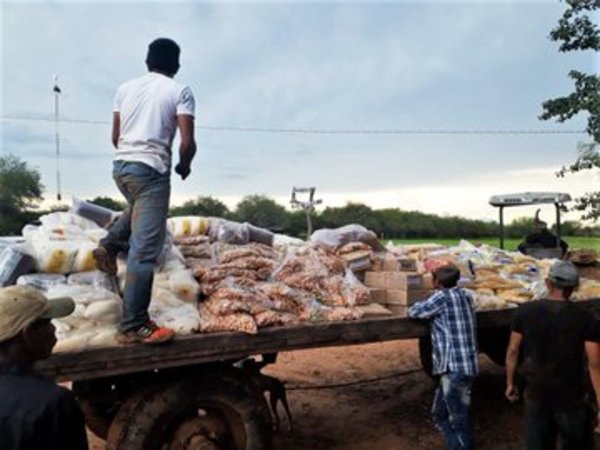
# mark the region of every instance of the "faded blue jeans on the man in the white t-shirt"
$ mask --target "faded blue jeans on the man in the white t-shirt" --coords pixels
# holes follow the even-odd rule
[[[123,292],[120,330],[136,329],[146,323],[152,295],[154,266],[165,242],[171,182],[138,162],[115,161],[113,178],[129,205],[110,227],[100,244],[113,254],[129,243],[127,278]]]

